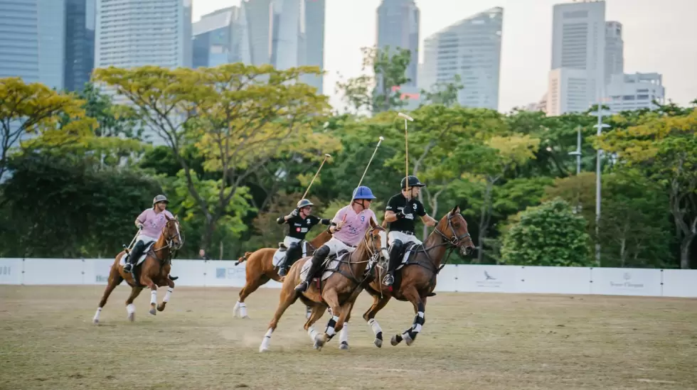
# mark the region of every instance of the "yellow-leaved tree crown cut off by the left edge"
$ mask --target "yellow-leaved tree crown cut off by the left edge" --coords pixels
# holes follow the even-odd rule
[[[7,170],[11,148],[24,135],[55,130],[61,118],[70,118],[61,134],[79,138],[93,120],[85,118],[85,102],[70,94],[60,94],[46,85],[26,84],[19,77],[0,79],[0,182]]]

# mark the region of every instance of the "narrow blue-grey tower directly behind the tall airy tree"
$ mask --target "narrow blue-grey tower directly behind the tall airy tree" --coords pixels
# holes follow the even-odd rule
[[[377,48],[384,50],[403,48],[410,50],[411,60],[406,75],[407,87],[418,85],[420,11],[414,0],[382,0],[377,11]]]

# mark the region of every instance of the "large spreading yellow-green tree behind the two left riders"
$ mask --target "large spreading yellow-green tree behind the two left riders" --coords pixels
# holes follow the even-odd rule
[[[299,82],[304,75],[319,74],[317,67],[276,70],[243,63],[196,70],[95,70],[96,79],[129,99],[132,113],[164,139],[179,161],[188,192],[206,220],[203,249],[244,180],[279,153],[292,151],[299,139],[321,137],[314,129],[324,123],[327,98]],[[202,193],[208,187],[196,186],[183,157],[192,144],[205,160],[204,170],[221,174],[216,197]]]

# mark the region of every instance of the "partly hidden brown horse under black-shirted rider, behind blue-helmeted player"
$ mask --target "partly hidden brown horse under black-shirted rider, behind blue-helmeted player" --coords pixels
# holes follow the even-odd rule
[[[317,237],[314,237],[312,241],[306,242],[307,256],[312,256],[314,251],[324,245],[325,242],[328,242],[329,239],[331,239],[331,233],[327,232],[325,229],[317,234]],[[235,308],[233,308],[234,317],[249,318],[247,315],[245,298],[257,291],[257,288],[260,288],[260,286],[263,286],[270,280],[277,282],[283,281],[283,278],[278,276],[278,271],[273,265],[273,257],[277,250],[278,248],[262,248],[253,252],[246,252],[245,256],[240,257],[240,259],[235,262],[235,266],[237,266],[247,261],[247,267],[245,268],[247,280],[245,286],[240,290],[240,298],[237,303],[235,303]]]

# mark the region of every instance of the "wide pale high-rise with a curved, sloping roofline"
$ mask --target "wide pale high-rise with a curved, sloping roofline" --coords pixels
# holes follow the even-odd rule
[[[464,85],[457,96],[460,105],[498,109],[503,21],[504,9],[495,7],[426,38],[419,86],[430,90],[459,75]]]

